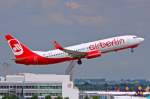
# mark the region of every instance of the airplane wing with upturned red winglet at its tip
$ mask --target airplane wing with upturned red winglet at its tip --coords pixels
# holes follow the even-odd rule
[[[86,52],[79,52],[79,51],[65,49],[57,41],[54,41],[54,47],[56,49],[59,49],[59,50],[65,52],[65,53],[68,53],[73,58],[83,58],[87,55]]]

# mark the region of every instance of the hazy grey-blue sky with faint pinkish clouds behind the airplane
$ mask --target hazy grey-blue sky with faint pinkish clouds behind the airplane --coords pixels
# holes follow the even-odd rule
[[[0,75],[64,74],[69,62],[46,66],[15,64],[4,36],[13,34],[32,50],[63,46],[120,35],[137,35],[145,41],[135,49],[83,59],[74,78],[150,80],[150,0],[0,0]],[[2,64],[8,63],[8,66]]]

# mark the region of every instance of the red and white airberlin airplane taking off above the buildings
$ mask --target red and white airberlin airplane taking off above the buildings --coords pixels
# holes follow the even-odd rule
[[[33,51],[10,33],[5,35],[5,38],[15,56],[15,62],[24,65],[47,65],[65,61],[77,61],[81,65],[83,58],[93,59],[108,52],[128,48],[133,52],[133,49],[144,41],[144,38],[135,35],[111,37],[69,47],[62,47],[57,41],[54,41],[54,50]]]

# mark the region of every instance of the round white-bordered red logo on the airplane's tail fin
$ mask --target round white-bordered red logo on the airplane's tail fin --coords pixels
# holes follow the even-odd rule
[[[8,41],[14,55],[18,56],[18,55],[21,55],[23,54],[23,48],[20,44],[20,42],[18,40],[15,40],[15,39],[11,39]]]

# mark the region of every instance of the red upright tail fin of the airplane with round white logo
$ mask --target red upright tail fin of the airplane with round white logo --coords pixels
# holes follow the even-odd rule
[[[33,52],[28,47],[14,38],[11,34],[7,34],[5,38],[8,41],[8,44],[12,49],[16,59],[25,58],[33,54]]]

